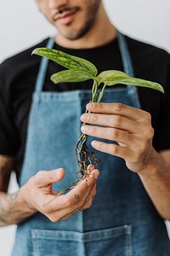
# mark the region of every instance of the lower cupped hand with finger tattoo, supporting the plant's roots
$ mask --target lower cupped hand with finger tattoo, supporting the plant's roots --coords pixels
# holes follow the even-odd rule
[[[96,182],[99,170],[88,166],[87,178],[84,178],[66,195],[58,195],[52,189],[52,183],[58,183],[65,175],[59,168],[54,171],[40,171],[20,189],[20,197],[26,208],[32,213],[42,212],[52,222],[69,218],[73,213],[91,207],[96,195]]]

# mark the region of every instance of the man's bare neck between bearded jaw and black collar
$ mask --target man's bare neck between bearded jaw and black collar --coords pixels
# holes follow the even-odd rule
[[[88,49],[111,42],[111,40],[116,38],[116,34],[116,28],[111,24],[111,21],[105,13],[104,6],[101,4],[94,25],[82,38],[70,40],[58,33],[55,37],[55,42],[65,48]]]

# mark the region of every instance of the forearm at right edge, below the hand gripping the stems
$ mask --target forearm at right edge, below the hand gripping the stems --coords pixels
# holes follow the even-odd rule
[[[168,155],[169,159],[169,155]],[[170,166],[161,154],[153,150],[152,161],[139,177],[162,218],[170,220]]]

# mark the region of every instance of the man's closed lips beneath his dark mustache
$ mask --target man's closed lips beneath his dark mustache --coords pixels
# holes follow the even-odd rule
[[[64,19],[65,17],[76,13],[79,9],[79,7],[63,7],[58,9],[52,18],[54,21]]]

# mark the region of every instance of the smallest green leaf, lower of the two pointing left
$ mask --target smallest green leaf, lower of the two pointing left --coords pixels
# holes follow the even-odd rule
[[[93,79],[93,77],[90,76],[89,73],[80,72],[78,70],[63,70],[51,76],[51,80],[54,84],[83,82],[88,79]]]

